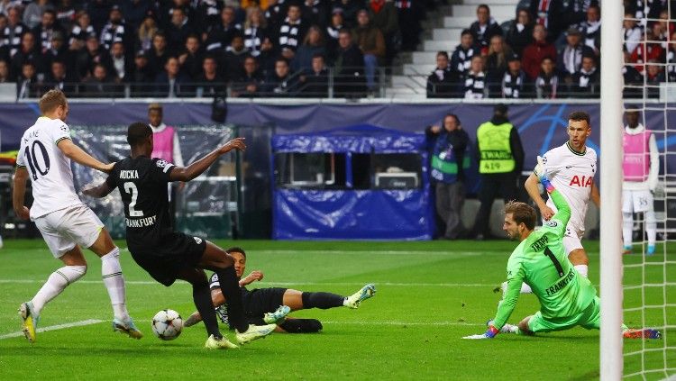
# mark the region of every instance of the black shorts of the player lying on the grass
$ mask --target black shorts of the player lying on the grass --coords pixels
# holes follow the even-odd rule
[[[213,274],[209,278],[209,288],[212,290],[220,288],[218,284],[218,275]],[[242,304],[244,305],[244,314],[250,324],[264,324],[263,315],[272,313],[284,304],[284,293],[288,288],[269,287],[255,288],[251,291],[242,287]]]

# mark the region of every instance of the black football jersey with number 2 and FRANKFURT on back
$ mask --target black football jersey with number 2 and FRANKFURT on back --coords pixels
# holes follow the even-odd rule
[[[163,159],[126,158],[115,163],[106,178],[122,196],[130,249],[153,247],[172,232],[167,184],[173,168]]]

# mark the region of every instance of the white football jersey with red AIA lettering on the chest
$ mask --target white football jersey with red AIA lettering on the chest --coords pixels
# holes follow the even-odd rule
[[[596,175],[596,151],[585,147],[580,154],[573,151],[568,142],[561,147],[548,150],[544,154],[544,174],[552,181],[552,185],[565,197],[571,206],[571,220],[568,227],[580,238],[584,234],[584,219],[587,215],[591,185]],[[556,212],[552,199],[547,206]]]

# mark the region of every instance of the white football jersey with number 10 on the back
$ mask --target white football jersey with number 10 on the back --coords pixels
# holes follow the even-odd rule
[[[31,220],[82,204],[73,186],[70,159],[57,147],[64,139],[70,139],[69,126],[45,116],[23,132],[16,165],[28,169],[32,181]]]

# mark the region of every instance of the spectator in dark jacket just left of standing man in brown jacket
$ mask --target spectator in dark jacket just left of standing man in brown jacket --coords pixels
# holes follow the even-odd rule
[[[364,56],[352,43],[352,33],[348,29],[338,32],[338,49],[333,66],[334,92],[336,96],[360,96],[364,87]]]

